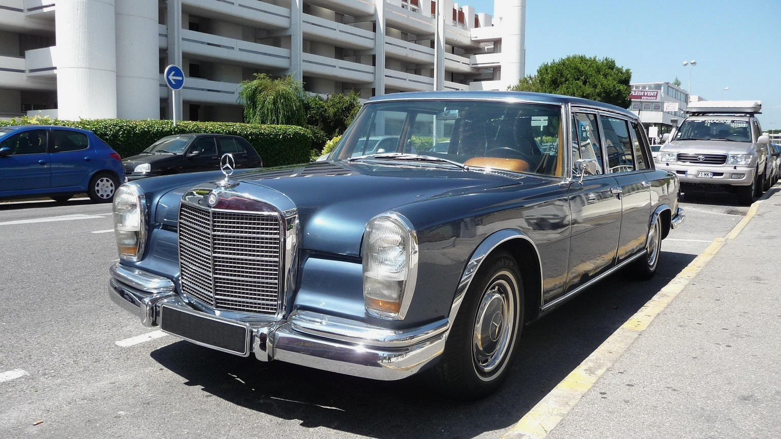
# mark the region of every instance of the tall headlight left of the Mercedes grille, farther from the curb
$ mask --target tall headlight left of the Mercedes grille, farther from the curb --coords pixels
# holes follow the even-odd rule
[[[119,258],[141,259],[146,242],[146,202],[135,184],[123,184],[114,194],[114,237]]]

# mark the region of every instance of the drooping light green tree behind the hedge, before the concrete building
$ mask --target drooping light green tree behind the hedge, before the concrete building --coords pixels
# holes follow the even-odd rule
[[[247,123],[298,126],[306,123],[304,85],[291,76],[273,78],[266,73],[255,73],[255,79],[241,81],[237,100],[244,105]]]

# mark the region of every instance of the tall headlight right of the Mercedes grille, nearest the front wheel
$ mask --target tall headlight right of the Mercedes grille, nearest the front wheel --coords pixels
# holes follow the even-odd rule
[[[408,219],[397,213],[371,219],[364,232],[362,257],[366,311],[404,319],[418,269],[418,240]]]

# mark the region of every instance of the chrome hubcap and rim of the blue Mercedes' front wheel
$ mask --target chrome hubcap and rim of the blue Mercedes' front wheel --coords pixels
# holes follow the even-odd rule
[[[516,288],[512,274],[497,273],[477,307],[472,353],[475,368],[481,375],[492,373],[511,348]]]

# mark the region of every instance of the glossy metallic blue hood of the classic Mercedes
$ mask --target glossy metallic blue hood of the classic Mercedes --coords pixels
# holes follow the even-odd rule
[[[233,179],[238,186],[226,191],[261,200],[284,195],[298,209],[302,248],[358,256],[364,228],[373,216],[433,198],[522,184],[527,178],[439,167],[314,162],[237,174]],[[194,187],[213,185],[170,191],[160,199],[156,222],[175,225],[180,198]]]

